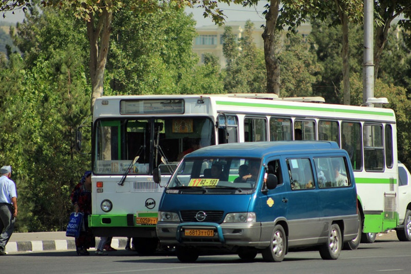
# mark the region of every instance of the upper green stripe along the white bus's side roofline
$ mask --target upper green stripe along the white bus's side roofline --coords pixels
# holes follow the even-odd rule
[[[364,110],[354,110],[354,109],[337,109],[331,107],[315,107],[315,106],[294,106],[294,105],[282,105],[282,104],[262,104],[262,103],[242,103],[242,102],[227,102],[227,101],[216,101],[217,105],[228,105],[228,106],[247,106],[247,107],[268,107],[268,108],[278,108],[278,109],[290,109],[298,111],[319,111],[319,112],[333,112],[333,113],[350,113],[350,114],[360,114],[360,115],[380,115],[394,117],[394,113],[391,112],[376,112],[368,111],[366,107]],[[376,108],[373,108],[376,109]]]

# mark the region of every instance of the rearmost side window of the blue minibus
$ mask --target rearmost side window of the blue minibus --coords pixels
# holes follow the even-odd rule
[[[344,157],[314,158],[320,188],[339,188],[351,185]]]

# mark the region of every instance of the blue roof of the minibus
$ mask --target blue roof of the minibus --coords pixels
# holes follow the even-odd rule
[[[272,142],[245,142],[210,145],[201,148],[186,157],[251,157],[261,158],[267,153],[284,154],[307,153],[319,150],[323,152],[340,149],[332,141],[272,141]]]

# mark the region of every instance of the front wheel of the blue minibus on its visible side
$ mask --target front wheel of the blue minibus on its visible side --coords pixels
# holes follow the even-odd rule
[[[263,255],[263,259],[267,262],[282,262],[286,255],[286,250],[286,232],[281,225],[276,225],[274,227],[273,235],[271,236],[270,245],[263,249],[261,254]]]

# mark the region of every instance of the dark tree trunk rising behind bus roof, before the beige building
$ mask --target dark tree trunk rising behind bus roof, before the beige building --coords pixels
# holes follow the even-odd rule
[[[275,57],[275,27],[278,19],[279,0],[270,1],[270,9],[266,15],[266,27],[261,36],[264,40],[264,57],[267,69],[267,93],[279,96],[280,67],[279,60]]]

